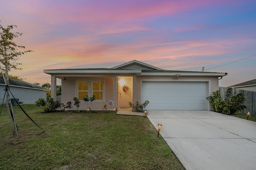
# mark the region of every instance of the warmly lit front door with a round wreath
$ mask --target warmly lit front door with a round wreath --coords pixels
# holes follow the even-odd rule
[[[118,78],[118,95],[120,108],[130,108],[129,102],[132,102],[132,78],[131,77],[119,77]],[[123,87],[127,86],[128,90],[123,90]]]

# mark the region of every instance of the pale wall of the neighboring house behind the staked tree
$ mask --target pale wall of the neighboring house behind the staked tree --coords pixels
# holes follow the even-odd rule
[[[0,86],[0,104],[3,102],[4,89],[5,86]],[[46,100],[46,92],[43,90],[10,86],[10,92],[12,92],[16,100],[19,99],[19,102],[23,102],[23,104],[35,104],[36,100],[39,98],[44,98]],[[13,98],[12,94],[10,94],[11,99]],[[6,98],[4,98],[4,103],[6,103]]]

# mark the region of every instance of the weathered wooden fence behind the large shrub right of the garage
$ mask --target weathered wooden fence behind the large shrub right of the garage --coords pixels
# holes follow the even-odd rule
[[[219,87],[219,90],[221,93],[221,97],[224,100],[227,88]],[[250,111],[251,115],[256,115],[256,92],[233,88],[232,96],[235,96],[238,93],[244,94],[246,98],[246,101],[243,103],[243,105],[246,106],[246,109],[240,111],[240,113],[246,114],[248,111]]]

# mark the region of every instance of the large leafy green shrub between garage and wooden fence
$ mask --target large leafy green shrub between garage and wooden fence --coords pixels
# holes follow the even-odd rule
[[[220,90],[216,90],[212,94],[213,96],[208,96],[206,99],[213,111],[229,115],[246,108],[245,105],[242,105],[246,100],[244,94],[238,93],[236,96],[232,96],[232,88],[227,88],[225,100],[222,100]]]

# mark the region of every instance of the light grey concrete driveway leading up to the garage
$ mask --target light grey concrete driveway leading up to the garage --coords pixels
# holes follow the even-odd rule
[[[256,170],[256,122],[213,111],[148,110],[186,170]]]

